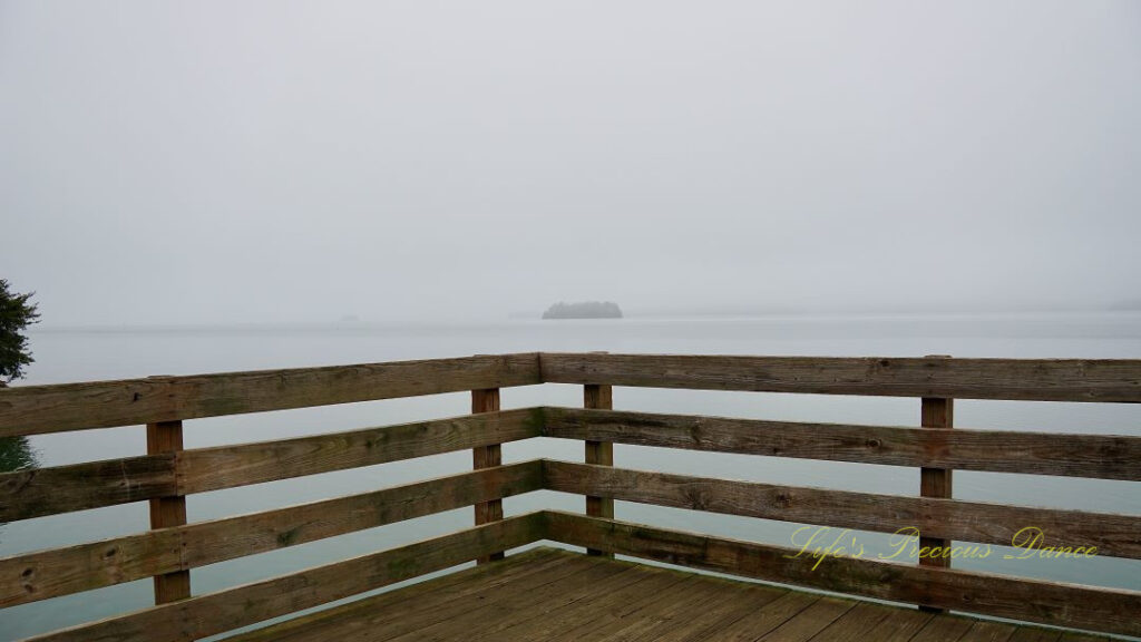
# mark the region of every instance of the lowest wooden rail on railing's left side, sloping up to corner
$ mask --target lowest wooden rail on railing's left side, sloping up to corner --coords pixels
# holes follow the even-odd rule
[[[30,637],[29,642],[200,639],[412,579],[542,539],[541,513]]]

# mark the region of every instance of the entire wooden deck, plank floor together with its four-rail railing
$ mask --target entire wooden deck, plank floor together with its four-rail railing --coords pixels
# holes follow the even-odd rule
[[[501,410],[501,390],[542,383],[581,385],[582,407]],[[911,396],[919,402],[917,425],[632,411],[615,409],[614,386]],[[471,394],[471,414],[458,417],[323,427],[209,448],[183,443],[184,430],[204,417],[461,391]],[[526,353],[3,388],[0,438],[145,424],[147,449],[0,473],[0,522],[148,501],[151,529],[0,559],[0,609],[149,577],[154,607],[27,640],[188,642],[494,561],[240,637],[1097,640],[942,615],[964,612],[1141,640],[1136,588],[1104,586],[1098,577],[1074,584],[956,568],[950,549],[955,543],[1017,546],[1018,533],[1033,528],[1034,547],[1047,555],[1135,563],[1141,515],[969,501],[950,482],[956,470],[1139,482],[1141,436],[1035,432],[1033,425],[964,430],[953,422],[955,399],[1141,404],[1141,360]],[[584,463],[503,465],[501,444],[539,438],[581,442]],[[616,462],[614,444],[897,466],[917,473],[919,485],[879,495],[673,474],[640,468],[637,449],[620,450]],[[192,495],[460,450],[471,454],[474,470],[257,513],[187,519]],[[583,497],[585,514],[543,508],[503,516],[504,498],[543,490]],[[791,541],[622,521],[615,501],[853,531],[917,530],[929,553],[919,563],[811,559],[798,555]],[[468,507],[471,528],[251,584],[192,591],[193,576],[210,564]],[[605,555],[548,549],[502,560],[504,551],[536,543]],[[837,597],[614,562],[615,554]]]

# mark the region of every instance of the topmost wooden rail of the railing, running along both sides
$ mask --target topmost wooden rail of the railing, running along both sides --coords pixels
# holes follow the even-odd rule
[[[1141,360],[523,353],[0,390],[0,436],[540,383],[1141,402]]]

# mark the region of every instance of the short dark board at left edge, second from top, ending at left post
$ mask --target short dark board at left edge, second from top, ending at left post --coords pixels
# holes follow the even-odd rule
[[[172,454],[0,473],[0,522],[145,501],[177,491]]]

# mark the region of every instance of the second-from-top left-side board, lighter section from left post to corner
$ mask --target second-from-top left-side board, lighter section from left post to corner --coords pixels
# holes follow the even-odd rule
[[[520,409],[186,450],[179,456],[179,481],[181,492],[191,495],[518,441],[541,431],[542,410]]]

